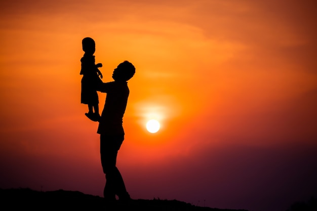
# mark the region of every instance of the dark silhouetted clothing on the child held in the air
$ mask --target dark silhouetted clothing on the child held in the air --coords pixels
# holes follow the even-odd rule
[[[82,69],[80,74],[83,75],[81,103],[97,105],[99,103],[99,98],[96,89],[98,83],[102,83],[102,80],[97,74],[95,56],[84,54],[84,56],[81,59],[81,62]]]

